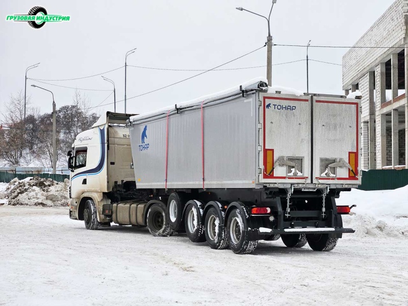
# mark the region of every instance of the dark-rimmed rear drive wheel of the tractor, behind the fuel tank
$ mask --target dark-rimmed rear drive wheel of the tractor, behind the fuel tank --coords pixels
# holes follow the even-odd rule
[[[151,235],[167,237],[173,233],[167,223],[166,208],[163,204],[154,203],[147,212],[147,228]]]

